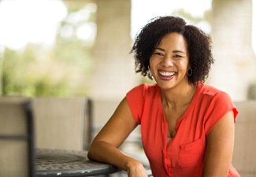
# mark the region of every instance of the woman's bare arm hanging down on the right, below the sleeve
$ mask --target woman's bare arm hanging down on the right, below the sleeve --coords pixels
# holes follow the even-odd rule
[[[227,177],[234,146],[234,113],[225,114],[207,136],[202,177]]]

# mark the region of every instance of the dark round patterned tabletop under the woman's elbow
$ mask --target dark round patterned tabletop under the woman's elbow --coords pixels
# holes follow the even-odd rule
[[[98,163],[87,158],[87,151],[36,149],[37,177],[107,175],[120,169],[111,164]]]

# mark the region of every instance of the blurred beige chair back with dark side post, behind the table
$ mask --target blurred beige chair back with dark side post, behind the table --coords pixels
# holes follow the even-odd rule
[[[92,140],[89,98],[32,98],[36,148],[87,150]]]

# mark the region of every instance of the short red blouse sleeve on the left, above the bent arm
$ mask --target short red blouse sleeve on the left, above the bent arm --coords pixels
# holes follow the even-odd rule
[[[133,88],[126,94],[126,99],[128,101],[128,105],[131,109],[132,116],[135,121],[140,124],[141,117],[143,114],[144,107],[144,99],[145,99],[145,90],[146,85],[141,84],[138,87]]]

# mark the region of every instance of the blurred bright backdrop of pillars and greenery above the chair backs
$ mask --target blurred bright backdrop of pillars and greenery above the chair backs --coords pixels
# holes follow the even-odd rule
[[[0,0],[0,94],[117,100],[142,82],[129,51],[156,16],[184,17],[212,35],[206,83],[256,99],[253,0]]]

